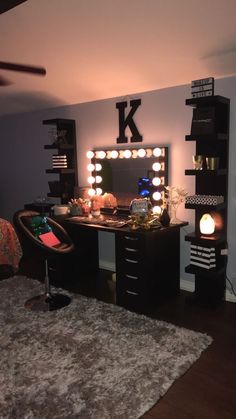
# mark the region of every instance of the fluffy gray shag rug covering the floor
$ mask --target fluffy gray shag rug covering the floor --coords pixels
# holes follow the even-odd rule
[[[22,276],[0,282],[4,419],[139,418],[212,342],[81,295],[58,311],[25,309],[42,291]]]

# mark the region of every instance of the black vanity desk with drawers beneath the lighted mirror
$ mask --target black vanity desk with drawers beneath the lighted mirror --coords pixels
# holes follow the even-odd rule
[[[116,303],[137,312],[149,311],[159,298],[180,290],[180,228],[188,223],[151,230],[132,230],[124,217],[69,217],[62,221],[76,246],[74,274],[99,270],[98,233],[115,236]],[[85,262],[88,261],[88,262]],[[77,271],[77,273],[76,273]]]

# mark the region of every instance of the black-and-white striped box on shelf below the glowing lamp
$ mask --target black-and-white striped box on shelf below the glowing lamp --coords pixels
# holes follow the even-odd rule
[[[216,249],[214,247],[202,247],[191,244],[190,249],[191,265],[199,266],[204,269],[216,267]]]

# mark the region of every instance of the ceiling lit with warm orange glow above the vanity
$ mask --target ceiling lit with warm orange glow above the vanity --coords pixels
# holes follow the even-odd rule
[[[235,16],[235,0],[24,1],[0,14],[0,61],[47,74],[1,70],[0,115],[236,75]]]

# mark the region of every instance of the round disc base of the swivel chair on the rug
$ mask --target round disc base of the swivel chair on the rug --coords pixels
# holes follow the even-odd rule
[[[25,302],[25,308],[32,311],[53,311],[68,306],[71,298],[64,294],[37,295]]]

